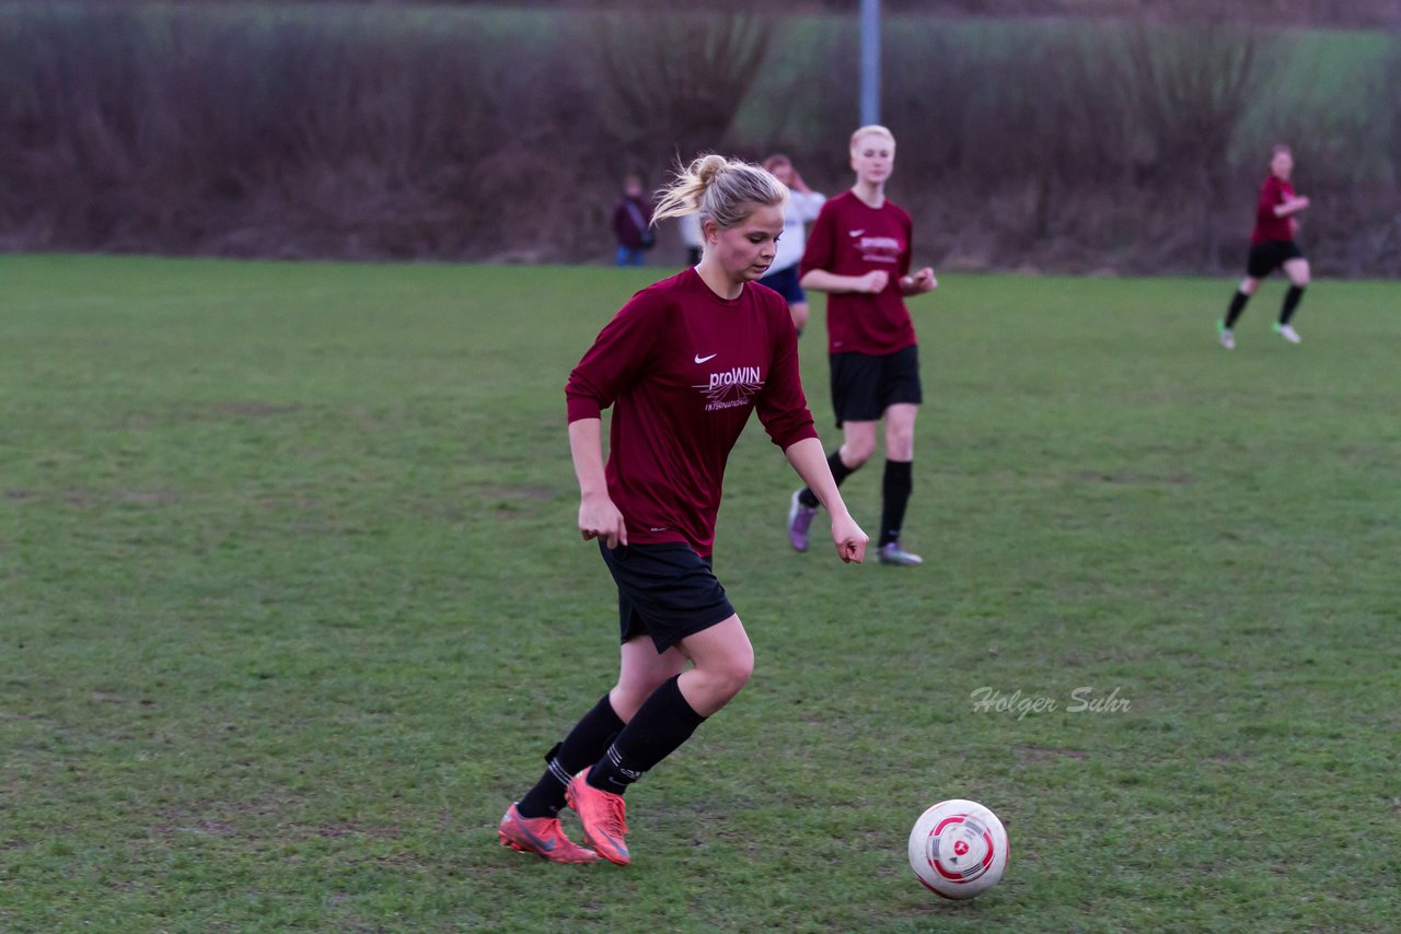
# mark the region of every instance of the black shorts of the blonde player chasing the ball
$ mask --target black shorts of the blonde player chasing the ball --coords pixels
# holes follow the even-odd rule
[[[650,636],[657,654],[686,636],[734,616],[734,606],[710,570],[710,559],[689,545],[619,545],[598,542],[618,584],[622,641]]]

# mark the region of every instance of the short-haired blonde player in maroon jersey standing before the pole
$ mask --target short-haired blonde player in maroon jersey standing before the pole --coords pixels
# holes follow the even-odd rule
[[[926,293],[937,281],[927,266],[909,272],[909,214],[885,197],[895,137],[884,126],[863,126],[852,134],[850,160],[856,185],[822,206],[801,265],[803,287],[828,293],[832,406],[843,438],[827,462],[841,485],[876,452],[876,427],[884,419],[877,555],[883,564],[919,564],[923,559],[899,542],[913,489],[915,413],[923,400],[919,349],[905,297]],[[807,550],[818,500],[813,489],[803,489],[789,503],[789,542],[800,552]]]

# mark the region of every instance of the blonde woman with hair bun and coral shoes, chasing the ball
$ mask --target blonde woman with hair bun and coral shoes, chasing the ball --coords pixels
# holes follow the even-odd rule
[[[616,685],[502,818],[503,846],[556,863],[629,863],[623,791],[750,678],[754,650],[710,548],[726,461],[751,412],[827,507],[838,556],[866,555],[813,428],[787,305],[755,284],[773,262],[787,189],[757,165],[706,155],[660,195],[653,221],[700,216],[700,262],[633,295],[565,386],[579,531],[598,539],[618,585],[622,661]],[[566,801],[593,849],[563,835]]]

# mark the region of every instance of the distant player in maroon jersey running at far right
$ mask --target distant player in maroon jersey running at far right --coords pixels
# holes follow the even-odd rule
[[[1255,230],[1250,235],[1250,259],[1245,262],[1245,279],[1230,300],[1226,318],[1216,322],[1222,346],[1236,349],[1236,321],[1245,311],[1245,302],[1259,288],[1259,280],[1281,266],[1289,276],[1289,291],[1275,322],[1275,333],[1289,343],[1299,343],[1299,332],[1290,321],[1299,300],[1309,286],[1309,260],[1295,242],[1299,230],[1299,211],[1309,207],[1309,199],[1295,195],[1289,176],[1295,171],[1295,157],[1288,146],[1276,146],[1269,160],[1269,176],[1259,186],[1259,200],[1255,203]]]

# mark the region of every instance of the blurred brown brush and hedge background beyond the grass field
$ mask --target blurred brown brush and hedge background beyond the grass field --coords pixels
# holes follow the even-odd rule
[[[782,148],[848,183],[845,6],[4,4],[0,249],[598,260],[628,169]],[[1289,141],[1316,270],[1401,273],[1398,4],[1166,6],[887,4],[923,256],[1233,272]]]

